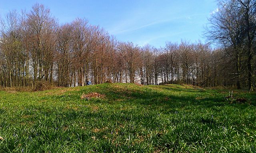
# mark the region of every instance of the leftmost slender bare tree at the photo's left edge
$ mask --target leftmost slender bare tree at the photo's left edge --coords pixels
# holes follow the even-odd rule
[[[6,15],[5,20],[1,20],[1,42],[2,60],[6,66],[6,86],[22,85],[24,77],[24,52],[21,42],[21,20],[16,11],[11,11]],[[2,61],[1,65],[3,66]],[[2,67],[2,73],[4,73]],[[2,77],[3,79],[3,77]]]

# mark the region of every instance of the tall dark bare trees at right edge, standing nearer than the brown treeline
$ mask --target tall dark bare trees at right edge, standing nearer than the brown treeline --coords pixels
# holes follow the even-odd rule
[[[241,89],[255,88],[256,81],[256,0],[219,0],[206,36],[220,45],[228,64],[223,70]]]

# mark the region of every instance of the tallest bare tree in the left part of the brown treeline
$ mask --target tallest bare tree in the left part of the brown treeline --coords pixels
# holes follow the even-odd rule
[[[50,10],[42,4],[35,4],[27,14],[28,33],[32,37],[31,58],[34,80],[52,81],[54,30],[56,21],[51,17]]]

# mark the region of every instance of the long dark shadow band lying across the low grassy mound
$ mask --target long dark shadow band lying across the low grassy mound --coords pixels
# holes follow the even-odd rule
[[[172,86],[157,86],[159,89],[163,89],[164,92],[159,92],[148,87],[134,87],[136,85],[128,85],[124,87],[125,90],[116,91],[115,87],[108,87],[106,95],[110,99],[123,98],[125,101],[132,101],[134,103],[140,103],[142,105],[155,105],[162,106],[163,104],[168,108],[184,107],[186,105],[194,105],[200,107],[220,107],[220,106],[233,106],[238,109],[245,109],[250,105],[248,103],[236,103],[230,104],[226,101],[222,95],[213,95],[212,93],[216,91],[204,90],[204,89],[184,89],[175,88]],[[178,91],[183,93],[183,95],[174,95],[172,91]],[[184,93],[191,92],[188,95]],[[197,94],[199,93],[199,95]],[[197,99],[198,96],[202,96]],[[168,109],[166,108],[166,109]]]

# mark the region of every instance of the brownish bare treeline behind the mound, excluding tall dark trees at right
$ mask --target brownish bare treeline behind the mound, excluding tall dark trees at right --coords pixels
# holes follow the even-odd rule
[[[93,84],[237,85],[232,78],[235,64],[225,48],[212,50],[200,42],[140,47],[116,40],[85,19],[60,25],[50,10],[39,4],[30,12],[8,13],[1,19],[0,30],[2,87],[28,86],[43,80],[63,87],[83,86],[87,79]],[[240,84],[243,87],[248,82]],[[251,84],[255,85],[255,75]]]

